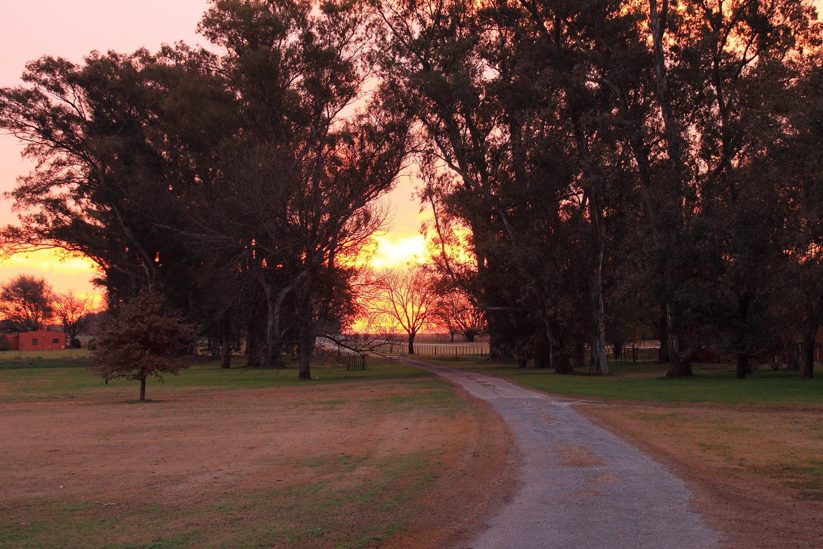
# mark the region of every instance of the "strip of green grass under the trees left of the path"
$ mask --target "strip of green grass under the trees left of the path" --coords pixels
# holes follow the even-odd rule
[[[25,354],[25,353],[29,354]],[[88,351],[8,351],[0,356],[0,402],[21,402],[51,398],[126,398],[139,396],[140,384],[123,379],[109,381],[94,375],[88,366]],[[65,356],[63,356],[65,354]],[[79,357],[78,357],[79,354]],[[235,364],[242,359],[235,360]],[[312,380],[297,379],[293,362],[284,370],[251,370],[234,367],[221,370],[219,361],[194,363],[180,375],[166,375],[165,383],[146,382],[146,398],[162,398],[170,393],[202,390],[284,387],[289,385],[334,384],[368,379],[416,378],[431,376],[425,370],[382,359],[369,359],[366,370],[346,370],[345,366],[318,361],[312,364]]]

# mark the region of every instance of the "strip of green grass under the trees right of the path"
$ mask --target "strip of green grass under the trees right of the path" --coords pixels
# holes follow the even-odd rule
[[[421,356],[421,360],[499,375],[546,393],[586,398],[646,402],[716,402],[723,404],[779,405],[823,403],[823,368],[816,379],[801,379],[797,372],[774,371],[761,366],[746,379],[735,379],[730,364],[695,364],[690,378],[667,378],[667,365],[657,362],[610,362],[610,375],[558,375],[553,370],[518,368],[514,361],[490,364],[463,358],[455,361]],[[530,363],[531,364],[531,363]]]

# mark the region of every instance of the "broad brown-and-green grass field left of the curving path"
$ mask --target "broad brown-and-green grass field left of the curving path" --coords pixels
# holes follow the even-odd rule
[[[0,370],[0,546],[439,547],[505,491],[482,403],[383,361],[313,376],[193,365],[135,402],[81,367]]]

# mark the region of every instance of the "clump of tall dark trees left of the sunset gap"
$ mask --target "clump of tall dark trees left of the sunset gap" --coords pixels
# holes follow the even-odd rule
[[[407,156],[404,119],[364,98],[364,8],[225,0],[200,24],[221,57],[178,45],[29,63],[30,86],[0,94],[0,125],[39,162],[12,193],[26,213],[7,253],[86,255],[111,308],[156,286],[224,365],[242,332],[249,365],[296,346],[309,379]]]

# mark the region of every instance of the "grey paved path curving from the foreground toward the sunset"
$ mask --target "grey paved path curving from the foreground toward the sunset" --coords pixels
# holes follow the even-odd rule
[[[720,535],[684,483],[570,402],[504,379],[405,359],[489,402],[523,456],[521,487],[472,549],[709,549]]]

